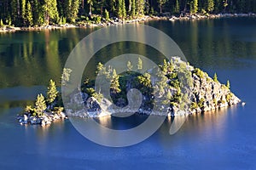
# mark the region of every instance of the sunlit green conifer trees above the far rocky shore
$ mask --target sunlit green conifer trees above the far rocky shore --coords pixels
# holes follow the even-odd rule
[[[0,0],[0,25],[44,26],[90,20],[136,19],[144,14],[219,14],[256,12],[255,0]]]

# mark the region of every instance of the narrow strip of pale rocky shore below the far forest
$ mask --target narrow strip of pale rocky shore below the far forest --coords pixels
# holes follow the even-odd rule
[[[95,23],[84,23],[84,24],[64,24],[64,25],[55,25],[55,26],[38,26],[38,27],[15,27],[15,26],[3,26],[0,28],[0,33],[5,32],[15,32],[15,31],[42,31],[42,30],[57,30],[57,29],[68,29],[68,28],[92,28],[92,27],[105,27],[105,26],[114,26],[114,25],[123,25],[134,22],[145,22],[150,20],[170,20],[172,22],[177,20],[209,20],[209,19],[221,19],[221,18],[236,18],[236,17],[255,17],[256,14],[187,14],[185,16],[148,16],[145,15],[142,18],[134,20],[109,20],[101,22],[99,24]]]

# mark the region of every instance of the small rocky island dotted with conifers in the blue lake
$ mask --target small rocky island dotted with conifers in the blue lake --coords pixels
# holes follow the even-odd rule
[[[222,84],[218,82],[216,73],[211,78],[206,72],[178,57],[172,57],[168,62],[164,60],[163,64],[159,65],[160,69],[152,68],[144,74],[131,71],[132,67],[138,71],[143,70],[143,60],[140,58],[136,63],[128,61],[124,66],[127,67],[127,71],[118,75],[111,66],[106,67],[102,63],[97,65],[97,77],[103,80],[103,84],[106,81],[110,83],[109,90],[113,103],[103,97],[104,92],[95,91],[95,80],[85,77],[80,89],[68,95],[66,104],[72,105],[73,109],[67,108],[68,111],[64,111],[61,95],[56,90],[55,82],[50,80],[46,98],[44,99],[43,94],[38,94],[34,106],[27,105],[24,113],[18,116],[20,124],[45,126],[56,120],[65,119],[67,115],[83,118],[125,113],[183,116],[215,111],[241,103],[241,99],[230,91],[229,80]],[[64,68],[61,76],[64,87],[68,84],[71,73],[72,70]],[[129,100],[127,97],[127,92],[133,88],[141,92],[142,103],[135,108],[125,108],[127,105],[137,105],[137,99]],[[84,106],[80,108],[78,105],[81,103],[81,97]],[[157,107],[157,112],[154,112],[154,107]]]

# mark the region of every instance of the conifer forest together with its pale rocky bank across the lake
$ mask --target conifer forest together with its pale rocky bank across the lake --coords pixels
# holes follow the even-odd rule
[[[0,31],[255,16],[254,0],[0,0]]]

